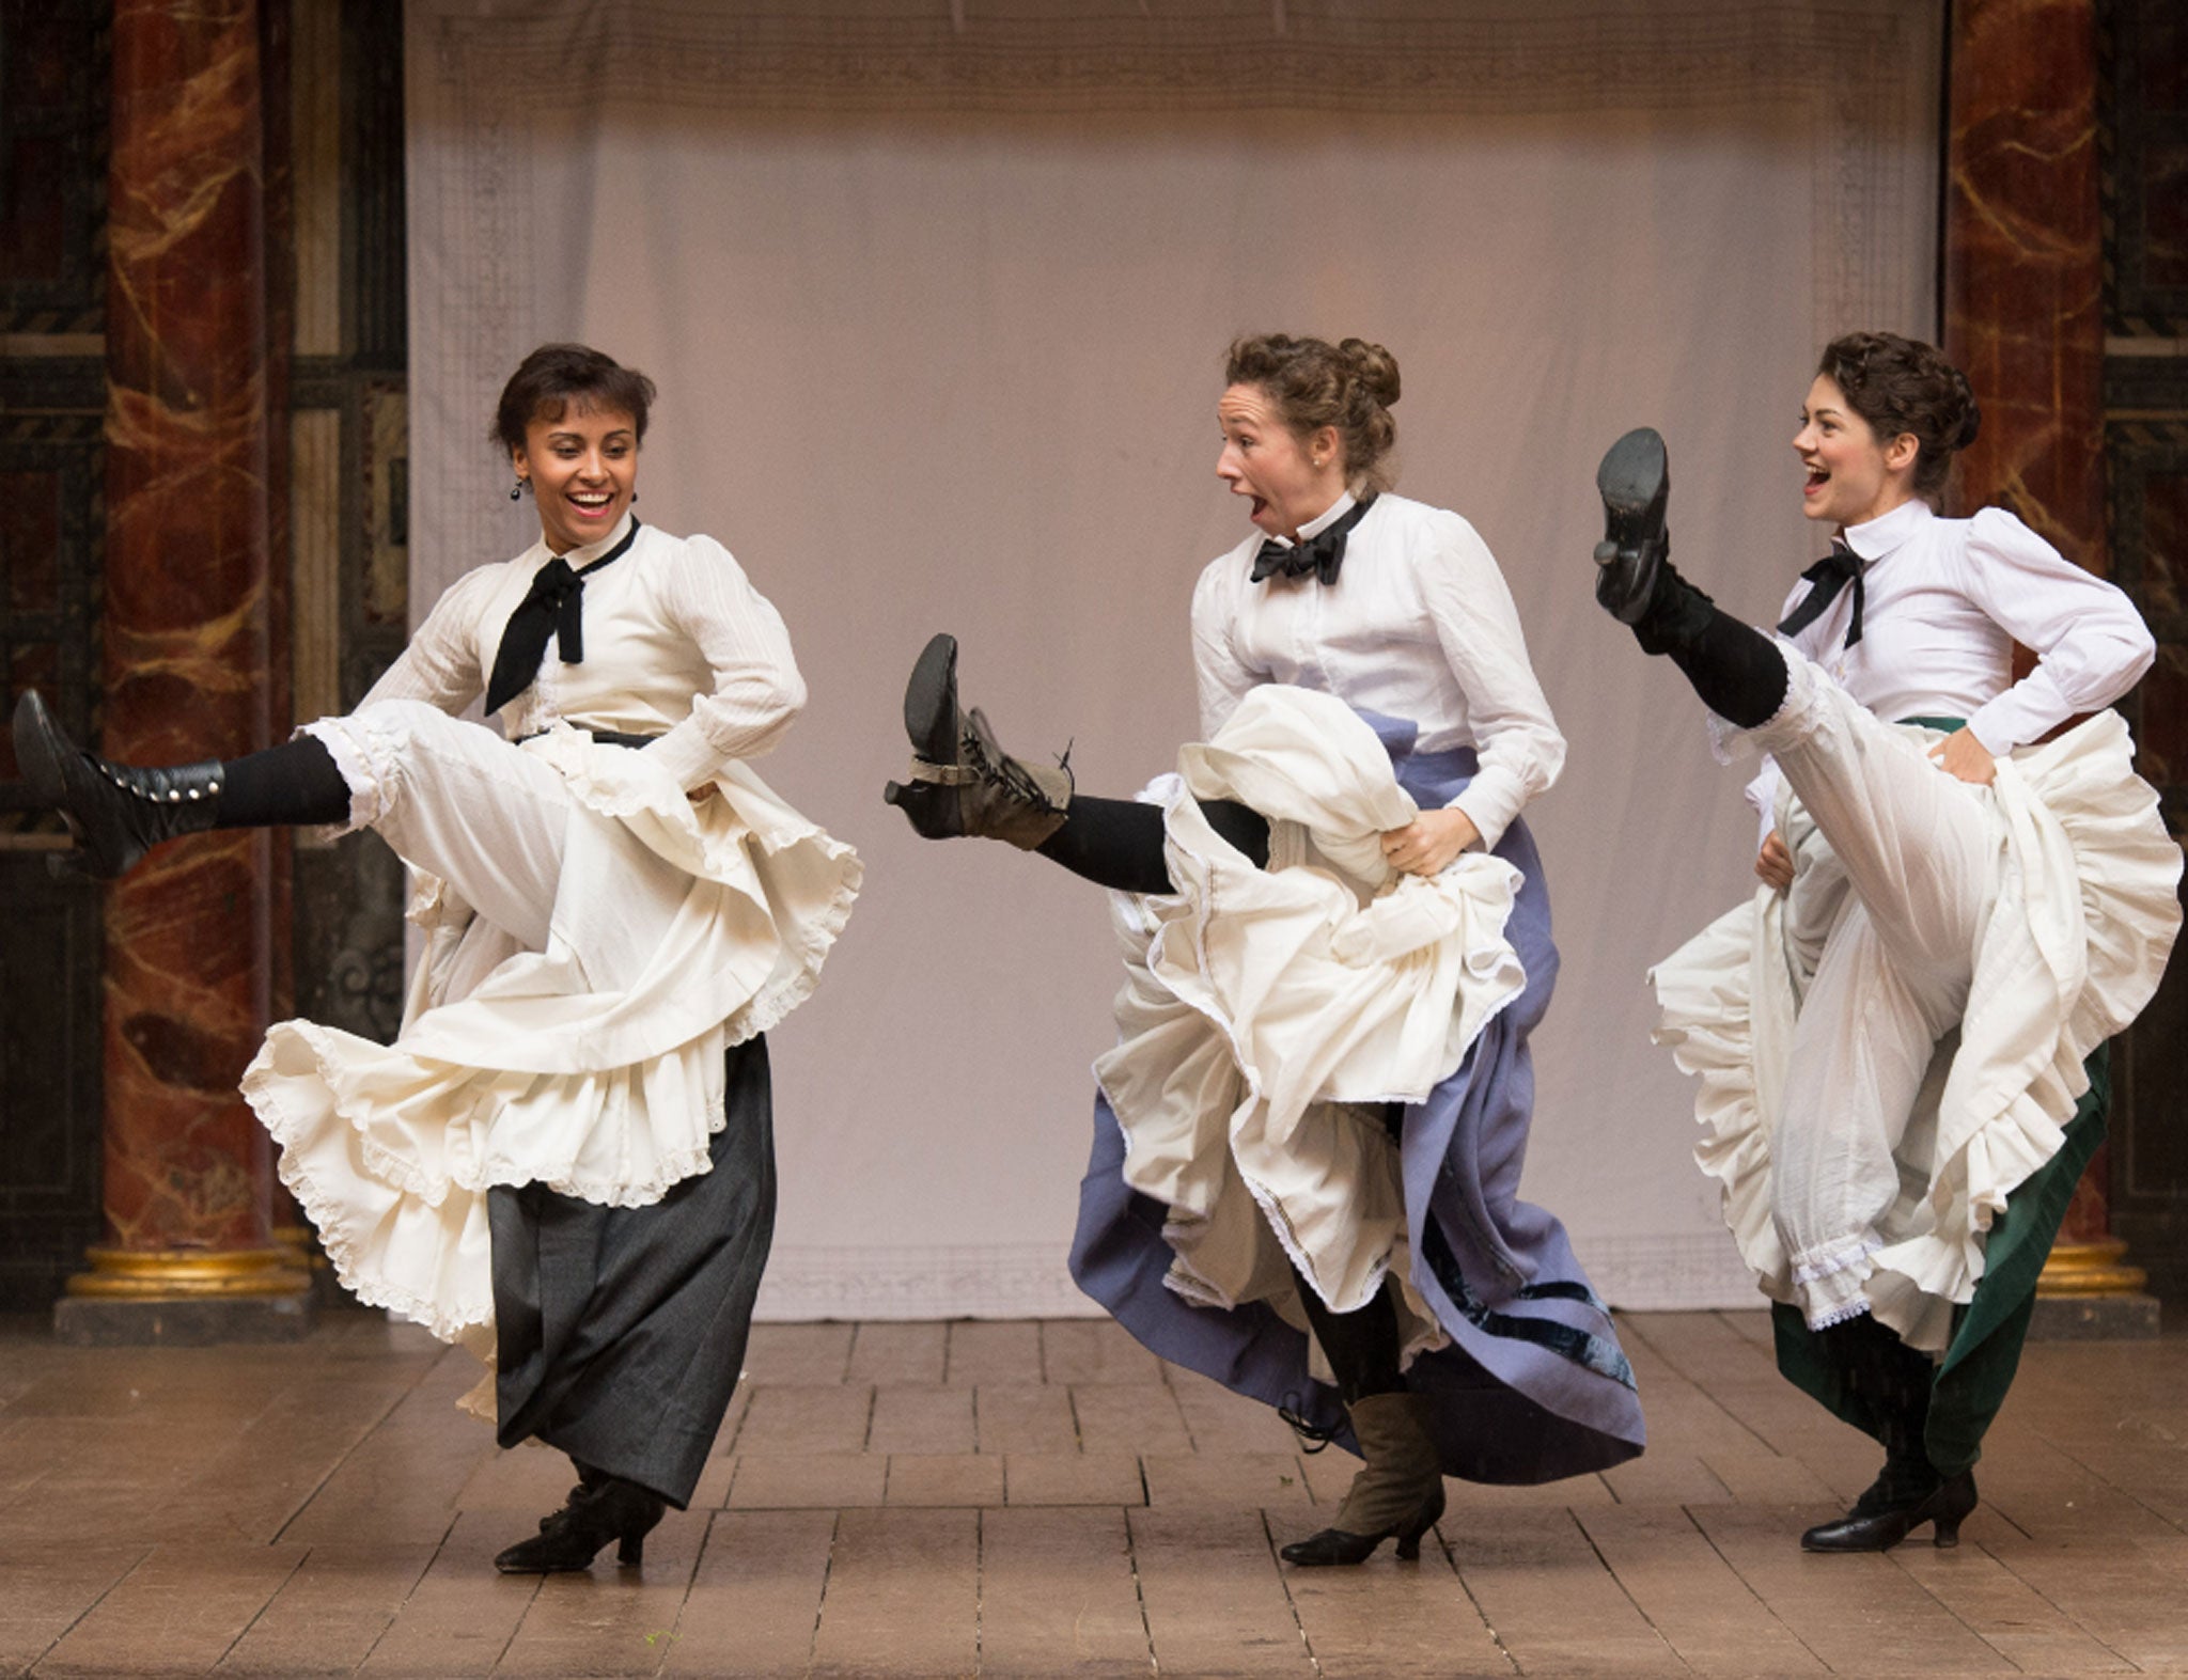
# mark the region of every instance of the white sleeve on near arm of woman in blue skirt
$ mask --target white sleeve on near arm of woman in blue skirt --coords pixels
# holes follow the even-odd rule
[[[1475,527],[1442,514],[1413,571],[1481,757],[1481,770],[1451,803],[1481,831],[1481,847],[1494,849],[1521,807],[1558,779],[1564,735],[1527,658],[1512,591]]]

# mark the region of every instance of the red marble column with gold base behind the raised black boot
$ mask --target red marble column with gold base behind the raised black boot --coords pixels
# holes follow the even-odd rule
[[[118,0],[107,223],[101,746],[234,757],[276,722],[256,0]],[[105,1218],[57,1328],[219,1341],[309,1328],[269,1240],[269,1140],[236,1096],[274,982],[274,838],[168,844],[105,901]]]

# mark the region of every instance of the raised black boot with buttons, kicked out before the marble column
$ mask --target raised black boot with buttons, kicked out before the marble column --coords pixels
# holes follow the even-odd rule
[[[221,812],[219,759],[160,770],[94,759],[35,691],[15,702],[15,763],[77,836],[77,849],[53,860],[55,873],[114,879],[162,840],[210,829]]]

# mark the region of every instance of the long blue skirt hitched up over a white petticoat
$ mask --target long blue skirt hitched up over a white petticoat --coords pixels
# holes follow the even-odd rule
[[[1398,783],[1424,807],[1448,805],[1479,768],[1475,752],[1416,752],[1413,726],[1368,718]],[[1527,989],[1475,1039],[1427,1102],[1405,1109],[1400,1172],[1411,1282],[1451,1337],[1420,1354],[1407,1387],[1427,1396],[1444,1472],[1536,1483],[1623,1463],[1641,1452],[1641,1398],[1610,1310],[1588,1286],[1564,1227],[1518,1199],[1534,1061],[1527,1035],[1558,982],[1549,888],[1527,825],[1497,844],[1523,886],[1505,936]],[[1079,1188],[1072,1278],[1151,1352],[1238,1393],[1287,1407],[1359,1450],[1337,1389],[1308,1376],[1308,1341],[1265,1302],[1199,1306],[1164,1284],[1164,1205],[1125,1183],[1125,1133],[1094,1098],[1094,1155]]]

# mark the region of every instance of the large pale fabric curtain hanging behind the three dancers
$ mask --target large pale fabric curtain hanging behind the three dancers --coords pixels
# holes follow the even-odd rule
[[[1236,332],[1400,363],[1400,492],[1497,551],[1571,739],[1529,812],[1562,976],[1523,1192],[1623,1306],[1753,1299],[1648,965],[1753,884],[1739,772],[1591,602],[1593,470],[1672,446],[1680,564],[1774,617],[1834,332],[1934,332],[1934,0],[409,0],[411,588],[536,534],[486,444],[534,343],[661,385],[639,514],[775,599],[759,766],[866,895],[775,1035],[775,1317],[1076,1312],[1114,1037],[1101,892],[880,803],[934,630],[1079,785],[1195,733],[1186,610]]]

